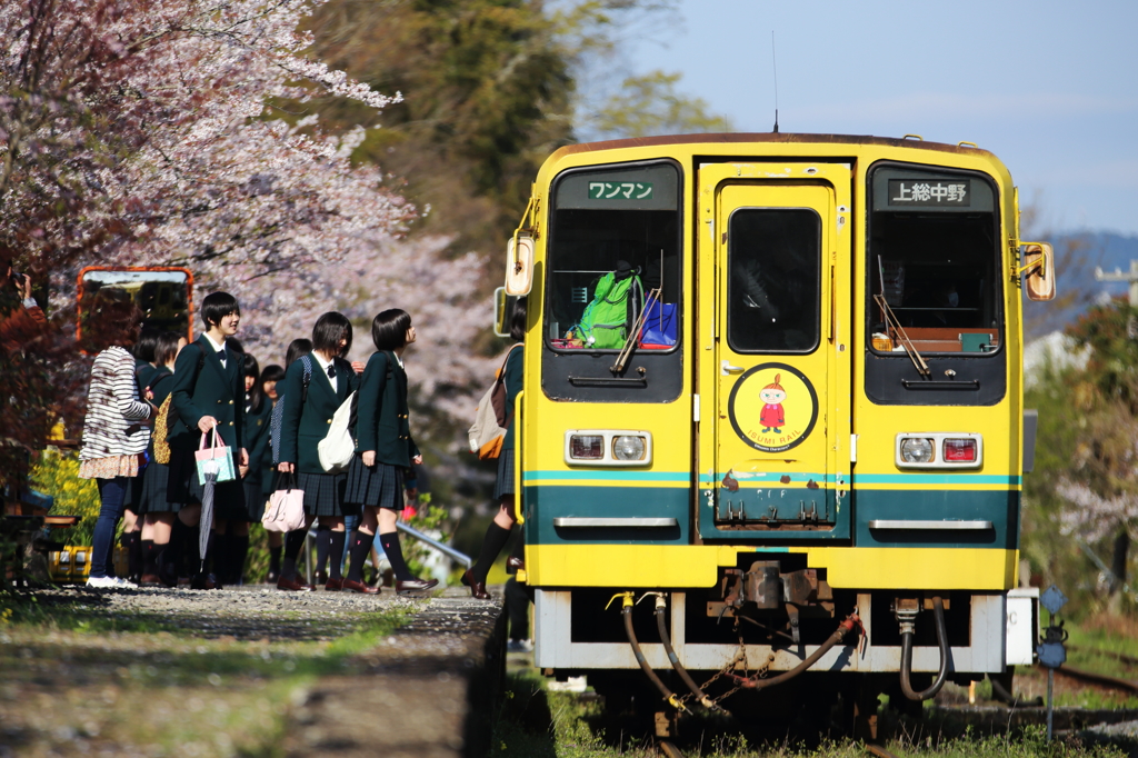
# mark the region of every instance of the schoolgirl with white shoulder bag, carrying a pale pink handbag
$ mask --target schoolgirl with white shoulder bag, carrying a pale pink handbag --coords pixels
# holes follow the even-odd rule
[[[312,328],[312,353],[303,355],[284,370],[284,403],[281,413],[280,463],[278,470],[296,473],[304,491],[304,528],[284,538],[284,562],[277,587],[292,592],[311,590],[296,571],[296,559],[304,546],[307,527],[319,519],[327,532],[318,532],[316,563],[322,571],[329,554],[344,552],[344,488],[346,473],[327,473],[320,464],[316,446],[328,434],[337,409],[360,387],[352,364],[344,360],[352,348],[352,322],[343,313],[325,313]],[[305,389],[305,372],[310,372]],[[323,537],[323,535],[328,535]],[[337,591],[344,583],[340,563],[332,561],[324,588]]]

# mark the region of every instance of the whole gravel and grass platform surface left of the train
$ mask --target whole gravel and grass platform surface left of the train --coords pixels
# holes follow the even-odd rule
[[[501,607],[462,592],[73,588],[8,607],[0,758],[461,756],[488,739]]]

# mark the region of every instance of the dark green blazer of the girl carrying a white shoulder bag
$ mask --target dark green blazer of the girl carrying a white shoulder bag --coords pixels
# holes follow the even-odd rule
[[[328,376],[320,370],[315,356],[308,354],[312,361],[312,379],[308,382],[308,398],[300,406],[304,390],[304,361],[292,361],[284,372],[284,397],[278,402],[284,403],[281,412],[281,463],[296,463],[299,473],[324,473],[320,465],[316,445],[328,434],[332,415],[344,403],[348,394],[360,388],[360,378],[352,370],[352,364],[344,359],[336,359],[336,373],[341,379],[339,390],[332,392]],[[347,379],[347,381],[343,381]],[[280,385],[277,385],[280,387]],[[280,392],[280,390],[278,390]]]

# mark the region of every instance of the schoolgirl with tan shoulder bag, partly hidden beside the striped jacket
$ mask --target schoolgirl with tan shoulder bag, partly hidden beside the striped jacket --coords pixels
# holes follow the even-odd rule
[[[162,407],[174,388],[174,365],[184,341],[184,337],[173,331],[159,332],[155,340],[154,370],[148,373],[147,384],[143,386],[143,392],[148,393],[155,407]],[[142,496],[139,504],[143,520],[140,583],[142,586],[157,586],[159,584],[173,586],[178,572],[167,571],[167,582],[163,582],[159,562],[163,551],[170,544],[174,514],[181,505],[172,504],[166,500],[166,488],[170,486],[170,465],[155,460],[152,438],[147,453],[150,455],[150,463],[147,464],[146,475],[142,477]]]

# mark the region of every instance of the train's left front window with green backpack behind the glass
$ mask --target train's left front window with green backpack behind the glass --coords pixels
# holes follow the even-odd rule
[[[570,171],[553,188],[546,344],[673,349],[679,340],[679,171]]]

